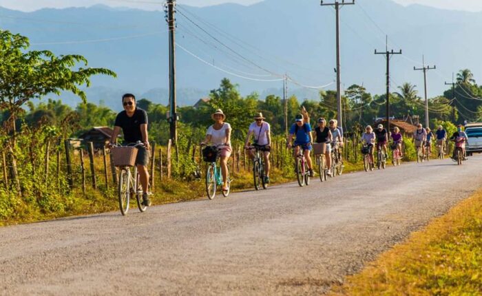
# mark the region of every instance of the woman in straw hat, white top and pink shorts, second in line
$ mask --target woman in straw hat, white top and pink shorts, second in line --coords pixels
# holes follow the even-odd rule
[[[211,114],[214,124],[211,125],[206,132],[206,138],[201,142],[201,145],[220,146],[220,165],[222,173],[222,191],[229,190],[228,177],[228,160],[231,157],[231,125],[224,123],[226,115],[221,109]]]

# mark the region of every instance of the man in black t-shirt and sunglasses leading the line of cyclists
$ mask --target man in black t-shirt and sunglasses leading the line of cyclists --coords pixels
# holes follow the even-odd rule
[[[124,111],[117,114],[116,122],[114,123],[114,131],[108,147],[112,147],[116,143],[117,135],[123,131],[125,145],[143,142],[144,147],[138,146],[136,167],[139,173],[140,185],[143,187],[143,204],[150,207],[151,200],[147,195],[149,187],[149,171],[147,165],[149,164],[149,138],[147,135],[147,112],[136,106],[136,96],[134,94],[124,94],[122,96],[122,103]]]

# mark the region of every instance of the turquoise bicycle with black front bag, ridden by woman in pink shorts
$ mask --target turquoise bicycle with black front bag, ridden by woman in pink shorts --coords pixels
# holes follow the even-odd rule
[[[202,159],[208,162],[206,167],[206,192],[209,200],[212,200],[216,196],[216,189],[218,186],[222,186],[222,174],[221,167],[217,164],[217,160],[220,157],[221,149],[219,147],[226,144],[216,146],[206,146],[202,149]],[[231,189],[232,180],[229,178],[229,169],[227,175],[228,189],[222,190],[222,195],[227,198]]]

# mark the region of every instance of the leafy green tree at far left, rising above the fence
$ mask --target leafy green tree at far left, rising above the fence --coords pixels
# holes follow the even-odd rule
[[[28,38],[0,30],[0,110],[10,114],[10,128],[15,134],[15,118],[23,112],[22,106],[46,94],[69,91],[87,100],[79,87],[90,86],[90,76],[104,74],[116,76],[104,68],[87,66],[80,55],[55,56],[48,50],[28,51]],[[78,67],[77,70],[72,68]]]

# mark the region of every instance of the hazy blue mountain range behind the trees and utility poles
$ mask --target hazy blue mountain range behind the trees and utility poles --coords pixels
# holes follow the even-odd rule
[[[319,6],[317,0],[179,6],[178,10],[176,41],[191,52],[177,49],[179,105],[192,105],[207,96],[223,77],[238,83],[242,94],[262,95],[268,93],[266,89],[282,94],[282,82],[264,80],[278,79],[286,72],[308,86],[335,79],[335,17],[332,8]],[[385,49],[384,34],[389,35],[389,49],[404,52],[394,56],[390,64],[393,88],[408,81],[423,89],[421,73],[413,71],[413,66],[420,66],[417,62],[422,54],[426,63],[437,65],[436,71],[428,73],[430,96],[446,89],[443,82],[451,79],[452,72],[467,67],[476,79],[482,74],[482,13],[359,0],[355,6],[343,8],[341,18],[344,87],[357,83],[369,92],[384,92],[385,61],[373,54],[375,48]],[[116,79],[92,80],[93,87],[87,91],[92,102],[103,101],[116,108],[123,92],[134,92],[156,103],[167,103],[168,47],[163,11],[93,6],[25,13],[0,8],[0,28],[28,36],[33,49],[82,54],[90,66],[114,70]],[[293,83],[289,92],[300,99],[317,98],[316,90]],[[80,101],[68,94],[62,97],[71,104]]]

